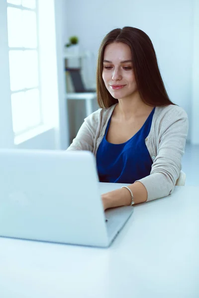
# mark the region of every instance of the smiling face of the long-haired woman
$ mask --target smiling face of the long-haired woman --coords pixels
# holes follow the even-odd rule
[[[137,91],[129,46],[114,42],[105,47],[102,78],[107,90],[116,99]]]

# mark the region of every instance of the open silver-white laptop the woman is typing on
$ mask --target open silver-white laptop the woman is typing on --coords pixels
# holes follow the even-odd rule
[[[107,247],[133,212],[104,214],[100,195],[119,187],[89,151],[0,149],[0,236]]]

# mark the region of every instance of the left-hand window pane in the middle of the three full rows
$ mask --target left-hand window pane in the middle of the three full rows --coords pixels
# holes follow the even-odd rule
[[[23,51],[9,51],[10,89],[12,91],[25,88]]]

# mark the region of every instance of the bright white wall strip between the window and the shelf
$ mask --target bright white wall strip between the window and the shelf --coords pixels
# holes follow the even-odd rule
[[[62,3],[62,0],[38,1],[43,117],[45,125],[54,128],[56,149],[66,149],[69,145],[63,71]]]

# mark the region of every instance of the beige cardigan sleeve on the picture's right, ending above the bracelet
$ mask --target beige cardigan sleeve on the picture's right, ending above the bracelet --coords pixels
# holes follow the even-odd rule
[[[152,164],[150,175],[140,180],[147,192],[147,201],[163,198],[174,190],[182,169],[181,159],[185,152],[188,134],[188,117],[184,110],[172,118],[168,115],[159,133],[157,156]],[[135,182],[137,182],[135,181]]]

